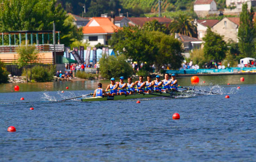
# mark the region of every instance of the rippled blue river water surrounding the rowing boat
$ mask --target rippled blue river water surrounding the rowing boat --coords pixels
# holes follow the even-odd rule
[[[91,93],[98,81],[18,84],[19,92],[0,84],[0,161],[255,161],[256,75],[240,77],[199,77],[196,89],[221,95],[141,104],[58,102]],[[193,87],[190,77],[178,81]]]

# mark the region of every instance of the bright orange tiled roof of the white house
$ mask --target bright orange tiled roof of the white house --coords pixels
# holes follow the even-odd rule
[[[96,21],[99,26],[90,26],[91,22]],[[108,18],[93,17],[86,26],[83,27],[83,34],[93,33],[114,33],[118,27],[114,25]]]

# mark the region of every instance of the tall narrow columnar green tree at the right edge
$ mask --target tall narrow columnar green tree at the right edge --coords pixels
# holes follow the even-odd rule
[[[255,51],[256,29],[253,22],[254,11],[247,10],[248,5],[244,3],[240,14],[240,25],[238,28],[238,46],[243,57],[252,57]]]

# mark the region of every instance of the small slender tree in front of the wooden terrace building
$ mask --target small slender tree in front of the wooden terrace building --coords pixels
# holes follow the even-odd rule
[[[28,68],[30,64],[35,64],[39,58],[39,53],[36,51],[35,46],[19,46],[17,48],[18,60],[14,63],[19,68],[24,68],[26,71],[26,78],[28,82]],[[30,68],[30,80],[32,79],[32,69]]]

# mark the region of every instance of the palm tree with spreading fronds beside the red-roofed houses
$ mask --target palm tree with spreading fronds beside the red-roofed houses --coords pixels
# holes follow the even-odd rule
[[[186,14],[180,14],[174,18],[169,29],[171,33],[180,33],[197,38],[197,25],[193,22],[193,18]]]

